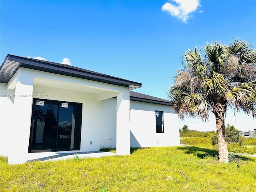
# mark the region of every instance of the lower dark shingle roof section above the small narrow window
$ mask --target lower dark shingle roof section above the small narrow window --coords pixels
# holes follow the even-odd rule
[[[131,101],[140,101],[154,104],[162,104],[162,105],[171,105],[169,100],[161,99],[158,97],[153,97],[150,95],[130,91],[130,100]]]

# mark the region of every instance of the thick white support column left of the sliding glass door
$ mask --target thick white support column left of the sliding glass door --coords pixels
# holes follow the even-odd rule
[[[8,155],[9,164],[21,164],[26,162],[30,136],[30,121],[32,111],[32,94],[34,77],[26,70],[20,68],[17,75],[15,88],[14,127],[10,137],[11,147]]]

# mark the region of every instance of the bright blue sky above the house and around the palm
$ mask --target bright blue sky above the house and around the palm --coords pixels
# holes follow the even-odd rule
[[[160,98],[167,98],[188,48],[215,40],[229,44],[238,37],[256,47],[253,0],[1,0],[0,22],[1,63],[7,54],[64,62],[140,82],[142,88],[135,91]],[[230,124],[241,130],[256,128],[244,114],[246,122],[238,122],[237,115],[233,123],[232,117],[227,117]],[[188,119],[184,124],[214,130],[212,120]]]

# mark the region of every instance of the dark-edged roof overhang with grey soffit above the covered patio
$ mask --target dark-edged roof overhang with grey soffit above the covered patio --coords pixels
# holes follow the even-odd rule
[[[129,87],[130,90],[141,87],[141,83],[138,82],[78,68],[75,66],[10,54],[6,56],[0,67],[0,82],[8,83],[20,67]]]

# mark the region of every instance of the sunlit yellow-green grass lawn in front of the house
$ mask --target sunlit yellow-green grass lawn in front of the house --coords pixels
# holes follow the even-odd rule
[[[0,191],[165,192],[256,189],[256,158],[219,163],[197,146],[141,148],[130,156],[8,165],[0,158]]]

